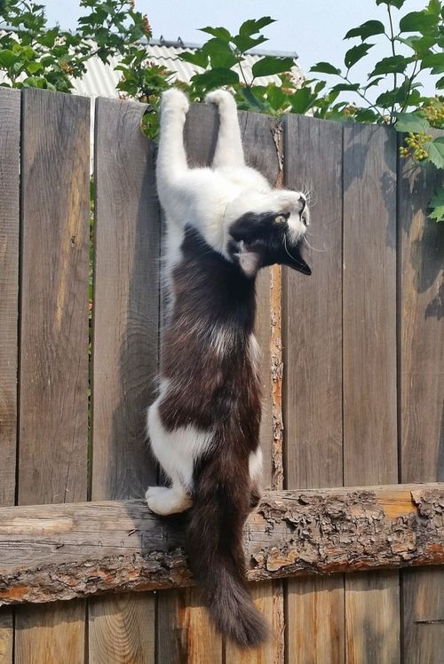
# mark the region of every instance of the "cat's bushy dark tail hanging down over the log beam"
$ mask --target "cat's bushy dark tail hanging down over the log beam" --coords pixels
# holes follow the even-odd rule
[[[187,532],[194,576],[216,628],[241,647],[266,641],[268,626],[245,577],[242,527],[250,511],[250,478],[229,472],[218,455],[194,471],[195,498]]]

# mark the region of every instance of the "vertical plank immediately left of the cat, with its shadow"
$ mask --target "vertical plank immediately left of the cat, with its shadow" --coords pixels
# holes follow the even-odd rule
[[[145,413],[158,361],[160,221],[144,110],[113,99],[96,106],[93,500],[141,497],[156,475]],[[98,597],[89,607],[91,664],[154,661],[152,594]]]

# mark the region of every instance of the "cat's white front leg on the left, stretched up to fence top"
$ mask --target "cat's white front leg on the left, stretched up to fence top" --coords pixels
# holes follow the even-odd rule
[[[161,131],[157,153],[157,190],[168,197],[170,186],[188,170],[184,145],[184,124],[189,107],[186,95],[171,88],[163,92],[161,101]]]

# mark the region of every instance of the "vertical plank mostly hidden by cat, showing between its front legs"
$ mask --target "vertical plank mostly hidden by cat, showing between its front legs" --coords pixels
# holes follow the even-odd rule
[[[186,118],[186,152],[191,165],[211,162],[217,138],[216,109],[192,106]],[[187,662],[218,664],[222,639],[210,624],[199,589],[161,592],[157,604],[158,664]]]

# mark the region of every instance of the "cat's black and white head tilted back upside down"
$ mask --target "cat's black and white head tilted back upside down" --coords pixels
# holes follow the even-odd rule
[[[226,207],[226,253],[247,276],[266,265],[311,274],[301,254],[310,213],[305,195],[286,189],[243,194]]]

